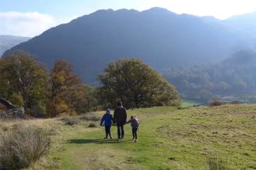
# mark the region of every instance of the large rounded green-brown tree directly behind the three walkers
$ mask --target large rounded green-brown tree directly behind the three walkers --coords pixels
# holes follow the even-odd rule
[[[114,105],[121,100],[125,107],[177,106],[180,97],[173,85],[140,60],[109,63],[99,75],[102,103]]]

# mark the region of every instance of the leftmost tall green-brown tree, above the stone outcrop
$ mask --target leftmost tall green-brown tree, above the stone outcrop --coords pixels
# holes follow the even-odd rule
[[[27,52],[12,52],[0,60],[0,93],[27,114],[46,98],[46,69]]]

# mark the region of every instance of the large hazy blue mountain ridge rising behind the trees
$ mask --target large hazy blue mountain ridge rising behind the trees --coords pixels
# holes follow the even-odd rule
[[[137,57],[164,71],[221,61],[255,43],[213,17],[178,15],[161,8],[107,9],[53,27],[10,51],[31,52],[49,67],[57,58],[69,60],[76,74],[93,82],[107,63],[124,57]]]

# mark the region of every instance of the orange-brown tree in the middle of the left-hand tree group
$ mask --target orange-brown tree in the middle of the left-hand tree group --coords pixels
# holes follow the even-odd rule
[[[55,117],[61,113],[72,111],[72,104],[69,105],[67,97],[72,96],[80,88],[80,78],[73,74],[72,66],[65,60],[57,60],[50,73],[50,91],[47,112]]]

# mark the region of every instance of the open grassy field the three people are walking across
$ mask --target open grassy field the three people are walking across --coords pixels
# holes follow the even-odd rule
[[[100,117],[103,112],[94,113]],[[121,143],[104,140],[103,128],[91,121],[65,125],[60,118],[1,122],[1,129],[39,126],[53,144],[50,153],[31,169],[176,169],[206,170],[214,153],[233,169],[256,169],[256,105],[221,107],[153,107],[128,110],[139,116],[139,142],[132,142],[130,125]],[[96,125],[99,122],[95,122]],[[117,137],[116,127],[112,127]]]

